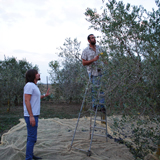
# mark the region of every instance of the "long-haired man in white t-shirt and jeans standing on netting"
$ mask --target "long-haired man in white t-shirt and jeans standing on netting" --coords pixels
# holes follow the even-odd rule
[[[45,95],[41,95],[37,82],[40,74],[35,69],[26,72],[26,85],[23,93],[24,119],[27,125],[26,160],[42,159],[33,154],[34,144],[37,141],[38,116],[40,115],[40,99],[49,95],[49,89]]]

